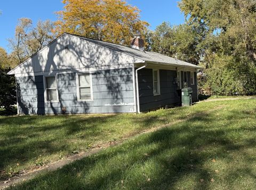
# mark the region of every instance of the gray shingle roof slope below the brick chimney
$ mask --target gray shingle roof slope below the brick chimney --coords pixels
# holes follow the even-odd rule
[[[82,37],[82,36],[78,36],[78,35],[74,35],[74,34],[69,34],[69,35],[76,36],[78,38],[87,40],[94,44],[98,44],[98,45],[113,49],[114,51],[118,51],[118,52],[124,53],[126,55],[137,57],[138,59],[141,59],[146,62],[154,62],[154,63],[160,63],[160,64],[165,63],[165,64],[170,64],[170,65],[177,65],[180,67],[201,69],[201,67],[199,67],[195,64],[191,64],[191,63],[181,61],[181,60],[175,60],[174,58],[163,55],[163,54],[159,54],[159,53],[155,53],[155,52],[148,52],[148,51],[143,52],[139,49],[134,49],[129,46],[124,46],[124,45],[119,45],[119,44],[114,44],[114,43],[109,43],[109,42],[103,42],[101,40],[86,38],[86,37]]]

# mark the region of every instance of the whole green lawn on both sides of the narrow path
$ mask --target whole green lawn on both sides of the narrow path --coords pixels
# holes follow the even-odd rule
[[[140,115],[0,117],[0,168],[18,171],[167,125],[11,188],[256,189],[255,112],[249,99]]]

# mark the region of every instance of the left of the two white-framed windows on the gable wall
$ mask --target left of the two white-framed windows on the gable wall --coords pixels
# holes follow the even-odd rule
[[[45,77],[46,101],[58,101],[58,90],[55,76]]]

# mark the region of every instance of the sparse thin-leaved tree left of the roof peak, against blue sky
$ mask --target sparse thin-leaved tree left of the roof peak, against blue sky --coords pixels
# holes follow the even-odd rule
[[[49,20],[38,21],[36,26],[33,27],[30,19],[19,19],[18,26],[15,28],[15,35],[12,39],[9,39],[13,61],[21,63],[50,43],[54,39],[52,30],[53,23]]]

